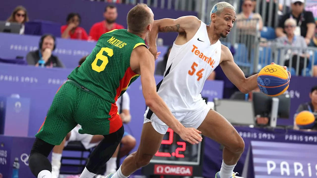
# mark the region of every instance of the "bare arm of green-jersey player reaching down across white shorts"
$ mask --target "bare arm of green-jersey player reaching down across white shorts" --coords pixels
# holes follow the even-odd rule
[[[141,74],[142,91],[146,105],[183,140],[191,144],[201,142],[202,137],[199,135],[201,132],[194,128],[185,128],[172,115],[163,99],[158,95],[154,79],[154,57],[145,47],[137,48],[135,49],[140,50],[136,57],[139,61],[139,73]]]

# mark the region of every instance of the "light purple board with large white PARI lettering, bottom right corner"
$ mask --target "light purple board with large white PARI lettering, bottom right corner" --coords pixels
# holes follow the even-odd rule
[[[311,144],[251,141],[244,172],[254,178],[316,177],[316,149]]]

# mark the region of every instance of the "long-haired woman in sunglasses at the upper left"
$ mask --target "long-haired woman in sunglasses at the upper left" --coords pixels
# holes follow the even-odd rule
[[[17,6],[11,16],[8,18],[7,22],[16,22],[20,23],[21,29],[20,29],[20,35],[24,35],[24,23],[29,21],[28,11],[23,6]]]

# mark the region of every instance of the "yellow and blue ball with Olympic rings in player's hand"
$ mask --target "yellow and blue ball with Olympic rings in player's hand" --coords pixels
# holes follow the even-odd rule
[[[277,64],[270,64],[263,67],[257,78],[258,86],[268,96],[279,96],[289,86],[289,76],[284,67]]]

